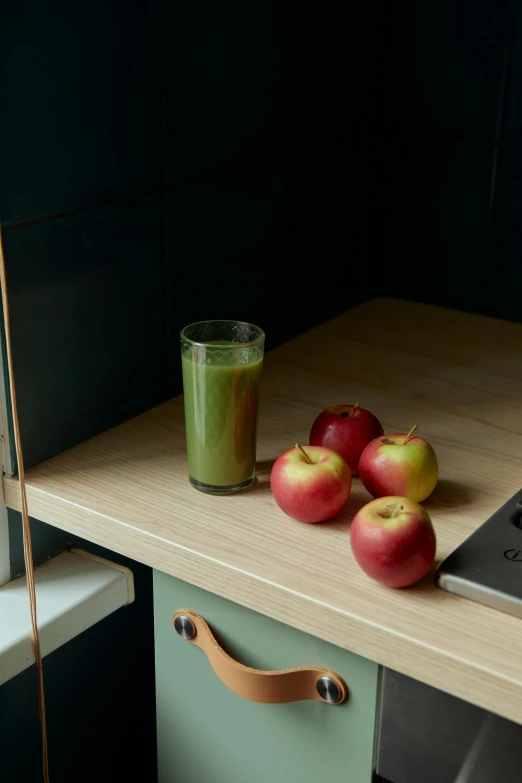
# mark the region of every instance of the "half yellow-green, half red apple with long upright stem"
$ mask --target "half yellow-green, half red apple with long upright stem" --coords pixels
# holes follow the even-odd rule
[[[427,441],[412,435],[415,429],[375,438],[361,454],[359,475],[374,498],[400,495],[420,503],[435,489],[437,455]]]

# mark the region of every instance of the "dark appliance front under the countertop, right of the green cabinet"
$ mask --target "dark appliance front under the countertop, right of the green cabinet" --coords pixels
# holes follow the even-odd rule
[[[385,669],[377,772],[390,783],[520,783],[522,726]]]

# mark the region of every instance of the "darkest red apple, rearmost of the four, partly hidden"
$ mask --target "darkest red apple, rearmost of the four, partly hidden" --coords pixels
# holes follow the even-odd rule
[[[383,435],[379,419],[355,405],[333,405],[319,414],[310,431],[310,444],[336,451],[352,474],[359,472],[359,457],[364,447]]]

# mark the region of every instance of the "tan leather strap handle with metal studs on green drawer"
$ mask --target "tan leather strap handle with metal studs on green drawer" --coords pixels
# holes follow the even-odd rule
[[[348,696],[342,677],[329,669],[318,666],[280,671],[251,669],[223,650],[205,620],[195,612],[179,609],[173,619],[177,633],[203,650],[221,682],[238,696],[265,704],[307,699],[342,704]]]

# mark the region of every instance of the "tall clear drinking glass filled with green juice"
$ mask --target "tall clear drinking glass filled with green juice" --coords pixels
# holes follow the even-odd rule
[[[189,480],[214,495],[255,477],[264,332],[242,321],[200,321],[181,332]]]

